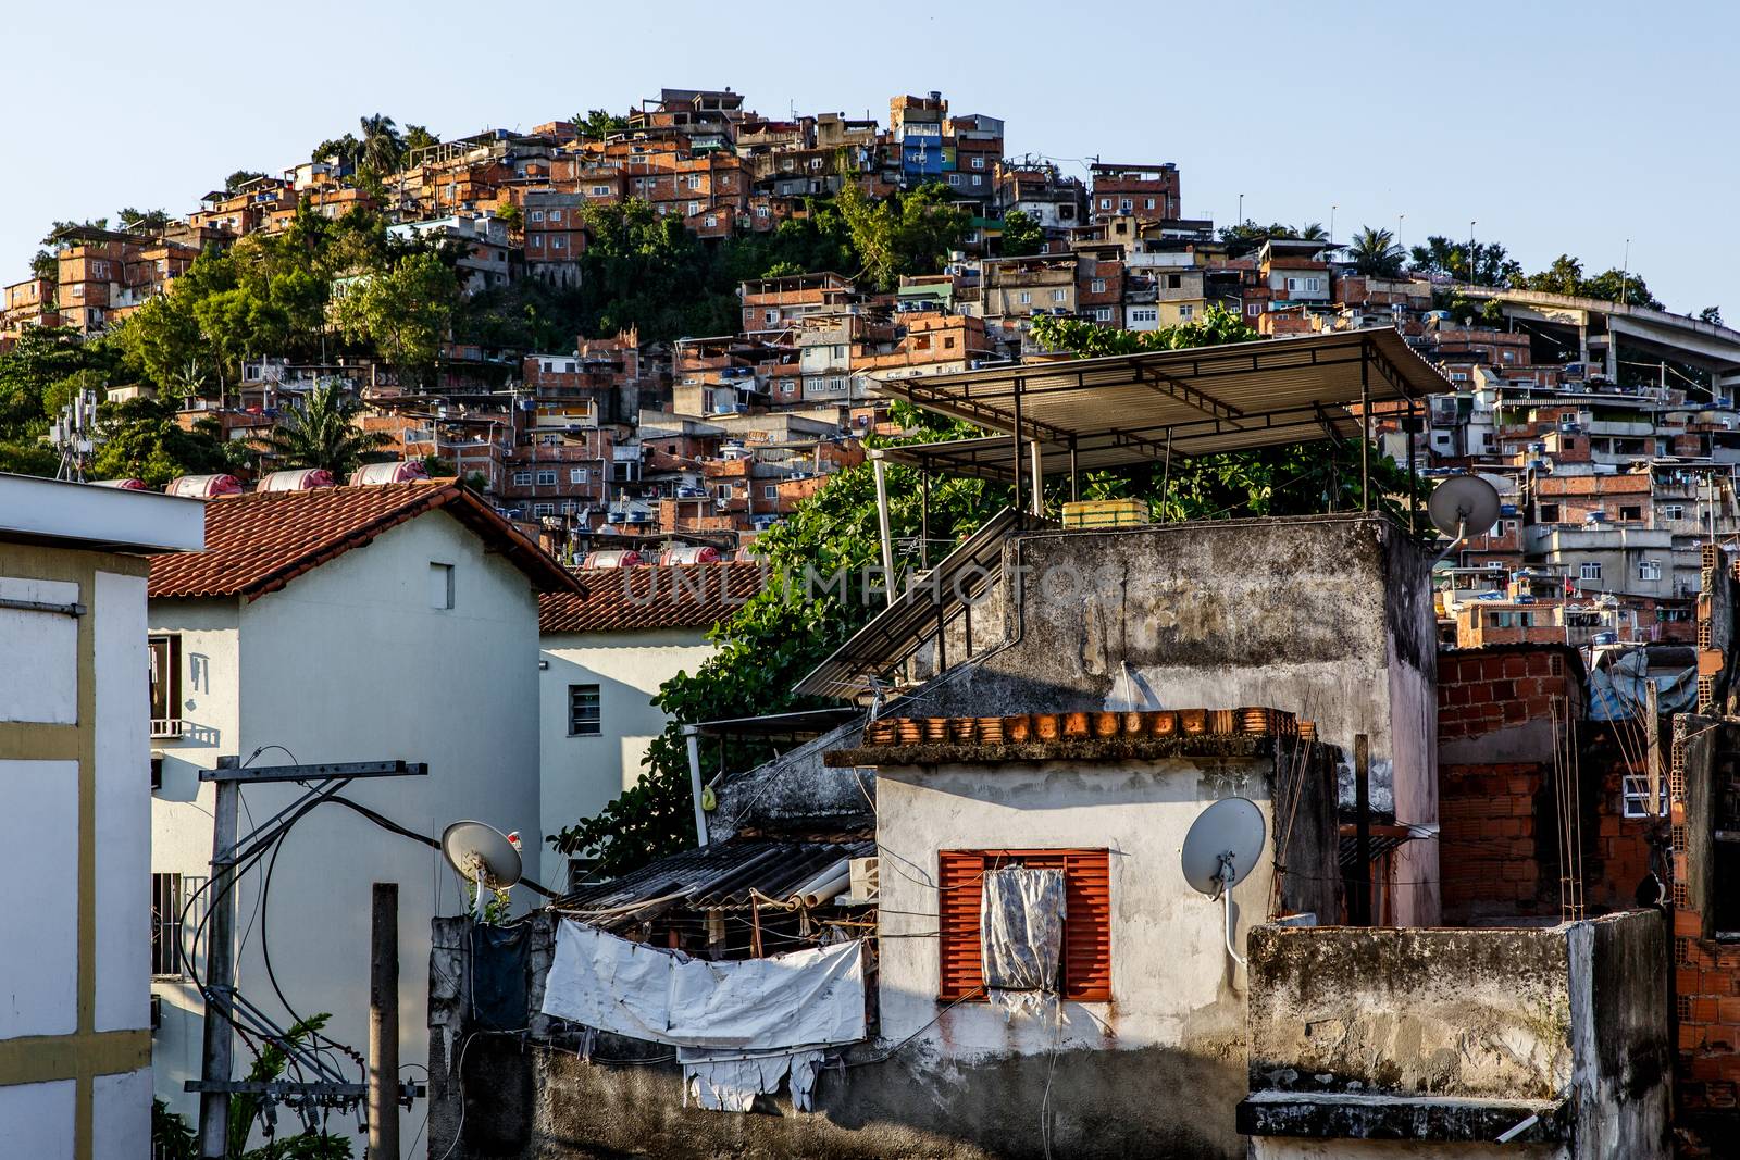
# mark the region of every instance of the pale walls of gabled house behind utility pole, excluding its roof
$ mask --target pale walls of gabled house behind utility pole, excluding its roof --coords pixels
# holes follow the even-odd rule
[[[452,609],[430,607],[432,562],[454,565]],[[541,837],[538,602],[525,574],[485,553],[458,520],[435,511],[402,523],[244,605],[233,631],[226,633],[221,616],[188,602],[153,603],[153,630],[167,630],[177,617],[209,621],[200,640],[211,645],[211,692],[204,692],[205,683],[190,692],[191,673],[184,670],[183,696],[204,704],[190,715],[212,713],[216,737],[204,750],[183,743],[172,751],[202,765],[219,753],[247,757],[264,744],[285,746],[303,763],[428,762],[426,779],[357,781],[345,797],[432,837],[465,817],[519,830],[529,843]],[[224,654],[230,640],[233,649]],[[184,638],[184,664],[193,652]],[[219,668],[223,663],[230,668]],[[289,760],[273,750],[258,763]],[[244,802],[264,821],[296,793],[296,786],[258,786]],[[158,870],[207,873],[209,817],[160,802],[158,826],[174,831],[165,833],[165,849],[184,859],[174,866],[158,861]],[[270,910],[258,922],[251,920],[254,883],[244,883],[238,986],[266,1012],[285,1017],[264,972],[261,941],[270,929],[273,969],[287,998],[301,1014],[331,1012],[327,1031],[364,1047],[369,885],[379,880],[398,882],[400,1056],[421,1061],[428,1052],[423,963],[430,918],[454,913],[461,897],[438,852],[343,807],[320,807],[285,838]],[[198,1030],[188,1023],[179,1033],[188,1040],[184,1050],[157,1056],[160,1097],[177,1094],[181,1082],[197,1075]],[[404,1132],[407,1148],[412,1136],[414,1129]]]

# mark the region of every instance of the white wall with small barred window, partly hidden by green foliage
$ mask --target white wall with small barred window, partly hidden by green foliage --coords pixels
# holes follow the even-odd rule
[[[706,631],[658,630],[639,633],[548,633],[539,657],[539,730],[543,765],[543,831],[555,833],[597,814],[611,798],[635,784],[652,737],[665,732],[666,717],[652,696],[677,673],[693,673],[713,645]],[[600,732],[571,737],[567,687],[599,685]],[[525,843],[531,849],[531,840]],[[567,857],[541,845],[543,883],[567,883]]]

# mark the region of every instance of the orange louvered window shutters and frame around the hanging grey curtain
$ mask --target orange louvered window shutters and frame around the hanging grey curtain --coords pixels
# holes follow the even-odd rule
[[[1063,871],[1063,998],[1112,1000],[1112,883],[1105,850],[938,850],[941,1000],[983,1000],[980,899],[985,871]]]

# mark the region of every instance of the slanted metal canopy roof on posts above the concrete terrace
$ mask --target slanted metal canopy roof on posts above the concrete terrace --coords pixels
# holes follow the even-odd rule
[[[1263,339],[1178,351],[1114,355],[880,381],[879,390],[926,410],[1075,452],[1077,468],[1107,468],[1328,437],[1357,438],[1366,400],[1415,402],[1455,390],[1389,327]],[[1009,440],[891,449],[971,475],[995,466]],[[948,449],[948,450],[945,450]],[[1023,464],[1025,470],[1025,464]]]

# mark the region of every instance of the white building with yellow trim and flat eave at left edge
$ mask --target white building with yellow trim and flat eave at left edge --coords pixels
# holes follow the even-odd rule
[[[200,504],[0,475],[0,1157],[151,1139],[143,553]]]

